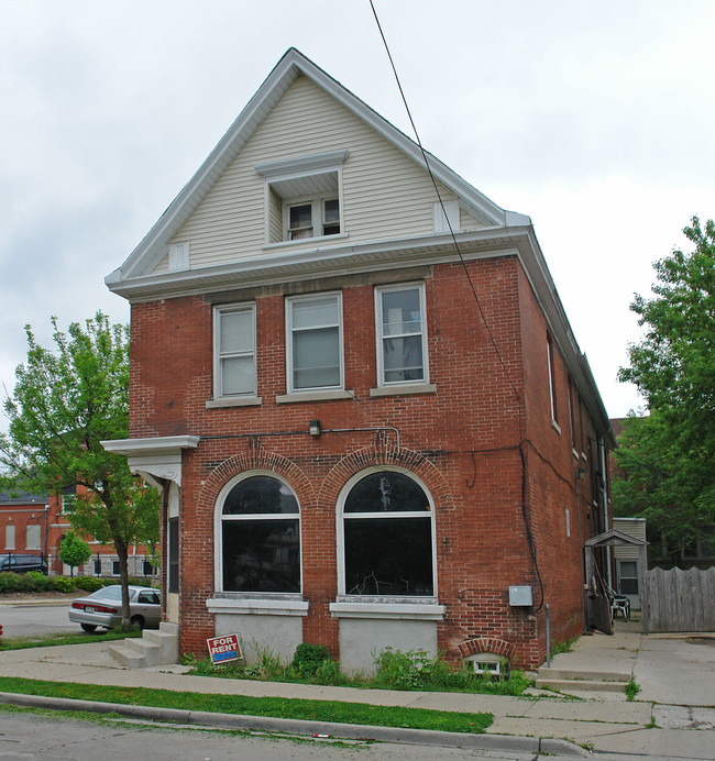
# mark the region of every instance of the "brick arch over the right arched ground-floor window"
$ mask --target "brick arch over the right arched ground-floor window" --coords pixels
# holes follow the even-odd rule
[[[416,475],[431,494],[436,510],[444,511],[454,508],[449,485],[436,465],[418,452],[404,448],[398,450],[385,440],[356,450],[337,463],[323,478],[318,503],[330,505],[334,509],[340,492],[352,476],[369,467],[380,466],[402,467]]]

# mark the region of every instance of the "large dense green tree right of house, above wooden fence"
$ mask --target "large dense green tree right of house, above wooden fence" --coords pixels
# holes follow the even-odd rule
[[[613,484],[615,510],[647,518],[672,547],[715,522],[715,223],[693,217],[683,232],[693,250],[657,262],[653,298],[631,305],[646,332],[619,379],[650,413],[626,421]]]

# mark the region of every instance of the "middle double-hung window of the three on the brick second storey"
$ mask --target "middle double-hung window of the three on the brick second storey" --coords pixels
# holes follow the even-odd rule
[[[340,294],[288,299],[286,334],[288,393],[343,387]]]

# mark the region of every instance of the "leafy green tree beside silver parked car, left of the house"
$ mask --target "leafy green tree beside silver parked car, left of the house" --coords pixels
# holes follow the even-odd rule
[[[15,371],[10,420],[0,435],[0,485],[59,494],[84,486],[68,506],[75,529],[113,544],[129,618],[128,550],[158,530],[158,493],[129,471],[127,460],[101,442],[129,432],[129,330],[98,312],[67,333],[53,318],[54,350],[41,346],[30,326],[28,359]]]

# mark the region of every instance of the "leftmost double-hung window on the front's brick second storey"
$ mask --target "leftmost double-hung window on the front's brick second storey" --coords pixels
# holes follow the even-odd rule
[[[213,342],[215,397],[254,396],[255,305],[217,307]]]

